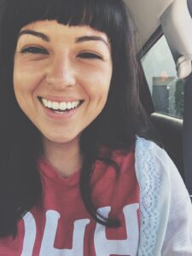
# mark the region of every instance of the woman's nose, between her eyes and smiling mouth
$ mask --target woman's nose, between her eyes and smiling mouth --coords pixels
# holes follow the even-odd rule
[[[67,55],[53,57],[47,68],[46,82],[55,89],[70,87],[76,83],[74,65]]]

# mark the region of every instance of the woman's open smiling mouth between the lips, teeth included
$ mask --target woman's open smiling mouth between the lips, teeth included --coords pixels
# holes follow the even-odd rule
[[[45,108],[49,108],[56,112],[66,112],[74,108],[78,108],[83,101],[75,102],[51,102],[45,98],[39,97],[40,102],[44,105]]]

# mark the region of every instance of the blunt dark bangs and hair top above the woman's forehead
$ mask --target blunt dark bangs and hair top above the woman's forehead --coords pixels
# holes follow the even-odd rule
[[[108,35],[117,49],[124,9],[121,0],[5,0],[10,34],[38,20],[57,20],[68,26],[90,26]],[[123,3],[124,4],[124,3]],[[15,31],[15,33],[13,33]],[[118,38],[118,40],[117,40]],[[116,42],[114,42],[116,41]]]

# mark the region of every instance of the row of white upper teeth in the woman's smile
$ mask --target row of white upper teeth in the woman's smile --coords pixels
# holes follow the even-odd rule
[[[54,110],[66,110],[66,109],[73,109],[77,108],[79,106],[79,101],[76,102],[51,102],[44,98],[42,98],[42,102],[44,104],[44,107],[46,108],[52,108]]]

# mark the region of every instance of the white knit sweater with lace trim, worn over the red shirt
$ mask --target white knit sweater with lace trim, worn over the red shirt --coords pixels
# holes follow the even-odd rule
[[[141,191],[137,256],[192,256],[192,205],[172,160],[138,137],[136,172]]]

